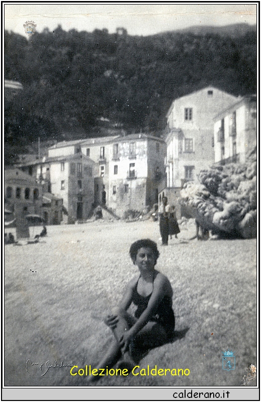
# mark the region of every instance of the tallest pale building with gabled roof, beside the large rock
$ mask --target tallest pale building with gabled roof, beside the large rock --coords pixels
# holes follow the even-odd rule
[[[172,103],[166,116],[166,187],[160,195],[164,192],[177,207],[184,183],[197,180],[200,170],[214,162],[214,116],[236,100],[237,97],[209,86]]]

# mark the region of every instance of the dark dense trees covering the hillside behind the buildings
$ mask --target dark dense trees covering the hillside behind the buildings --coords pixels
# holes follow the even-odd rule
[[[59,139],[64,131],[87,137],[101,117],[159,135],[177,97],[206,85],[256,92],[256,32],[142,37],[58,26],[26,39],[6,31],[5,79],[24,86],[5,103],[9,145]]]

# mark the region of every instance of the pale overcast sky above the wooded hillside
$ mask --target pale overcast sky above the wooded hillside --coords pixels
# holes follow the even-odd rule
[[[23,24],[34,21],[37,31],[93,32],[126,28],[130,35],[152,35],[193,25],[256,24],[256,4],[5,4],[5,29],[26,36]]]

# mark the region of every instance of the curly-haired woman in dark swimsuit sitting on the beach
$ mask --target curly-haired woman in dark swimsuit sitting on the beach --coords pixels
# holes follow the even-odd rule
[[[138,240],[130,247],[130,257],[139,269],[124,292],[115,314],[105,319],[116,338],[107,351],[99,368],[117,367],[132,369],[135,348],[149,349],[170,342],[175,327],[172,310],[172,288],[168,278],[155,269],[159,252],[155,242]],[[131,303],[137,309],[134,316],[127,312]],[[91,377],[98,380],[99,376]]]

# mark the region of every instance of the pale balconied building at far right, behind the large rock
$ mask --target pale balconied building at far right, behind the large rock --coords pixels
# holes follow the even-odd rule
[[[220,163],[243,163],[254,147],[256,95],[249,95],[215,116],[214,160]]]

